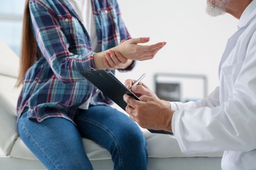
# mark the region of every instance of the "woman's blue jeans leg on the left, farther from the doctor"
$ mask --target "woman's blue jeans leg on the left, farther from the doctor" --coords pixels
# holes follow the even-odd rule
[[[22,141],[47,169],[92,169],[81,135],[65,118],[30,120],[26,113],[18,121]]]

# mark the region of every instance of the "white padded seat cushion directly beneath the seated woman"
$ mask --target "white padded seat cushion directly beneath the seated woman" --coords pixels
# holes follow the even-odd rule
[[[183,154],[177,140],[169,135],[150,133],[142,130],[147,141],[148,158],[181,158],[181,157],[221,157],[222,152]],[[95,142],[83,138],[83,146],[90,160],[111,160],[110,153]],[[37,160],[22,142],[20,137],[15,141],[10,156],[26,160]]]

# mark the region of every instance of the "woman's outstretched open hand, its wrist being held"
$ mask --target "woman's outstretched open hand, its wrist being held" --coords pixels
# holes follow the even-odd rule
[[[149,37],[140,37],[122,41],[121,44],[112,48],[115,52],[119,52],[123,57],[133,60],[147,60],[156,56],[156,53],[165,46],[166,42],[158,42],[151,45],[140,45],[149,42]]]

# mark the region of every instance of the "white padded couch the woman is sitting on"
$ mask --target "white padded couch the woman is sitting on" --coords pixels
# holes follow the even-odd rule
[[[1,41],[0,61],[0,169],[45,169],[18,135],[16,101],[20,89],[14,84],[19,58]],[[148,169],[221,169],[221,152],[182,154],[175,138],[142,131],[148,146]],[[83,139],[83,144],[94,169],[113,169],[110,154],[104,148],[89,139]]]

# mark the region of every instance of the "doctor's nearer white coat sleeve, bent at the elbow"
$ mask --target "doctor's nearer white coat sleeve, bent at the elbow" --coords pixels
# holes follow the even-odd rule
[[[228,100],[217,107],[185,108],[173,114],[172,129],[182,152],[248,152],[256,148],[255,40],[254,35],[238,75],[229,82],[232,93]]]

